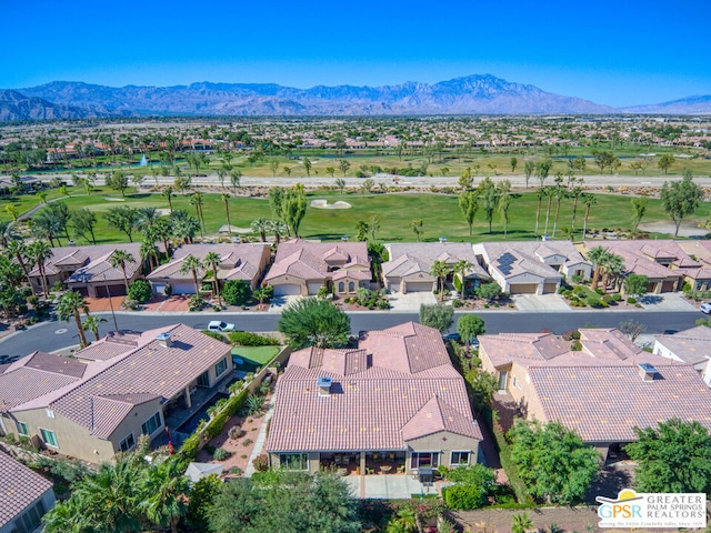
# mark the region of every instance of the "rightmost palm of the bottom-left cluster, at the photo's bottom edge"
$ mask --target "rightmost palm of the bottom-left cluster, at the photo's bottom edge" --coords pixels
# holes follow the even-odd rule
[[[188,511],[184,494],[190,485],[182,470],[179,461],[168,460],[149,467],[141,483],[146,499],[139,507],[153,524],[169,525],[171,533],[178,533],[178,523]]]

